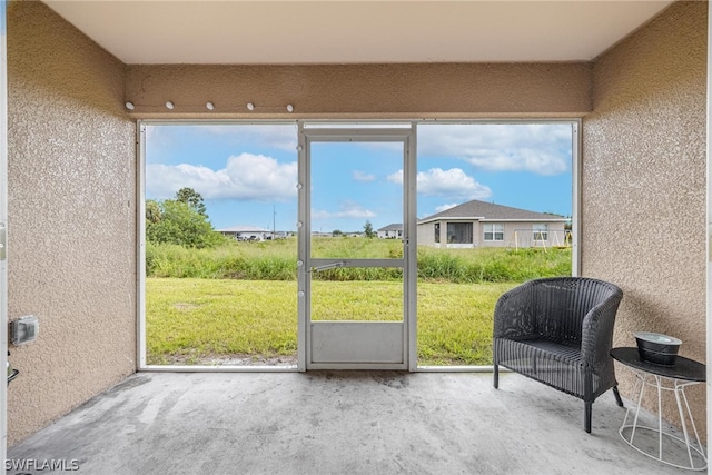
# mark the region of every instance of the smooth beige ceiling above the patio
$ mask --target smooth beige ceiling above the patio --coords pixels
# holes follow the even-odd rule
[[[671,0],[44,0],[126,63],[591,60]]]

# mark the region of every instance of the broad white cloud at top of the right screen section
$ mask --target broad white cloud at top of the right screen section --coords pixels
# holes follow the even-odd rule
[[[418,154],[467,160],[488,171],[560,175],[571,169],[571,125],[423,125]]]

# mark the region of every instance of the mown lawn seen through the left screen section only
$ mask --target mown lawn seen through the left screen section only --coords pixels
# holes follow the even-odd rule
[[[146,279],[149,365],[293,355],[296,331],[296,281]]]

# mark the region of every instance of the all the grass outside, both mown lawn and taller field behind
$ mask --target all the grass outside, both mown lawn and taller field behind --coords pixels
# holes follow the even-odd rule
[[[319,257],[398,257],[399,241],[315,240]],[[149,364],[294,363],[296,240],[231,243],[217,249],[149,246]],[[531,278],[571,275],[570,249],[418,249],[421,365],[492,363],[492,311]],[[400,319],[400,273],[332,269],[313,275],[313,319]]]

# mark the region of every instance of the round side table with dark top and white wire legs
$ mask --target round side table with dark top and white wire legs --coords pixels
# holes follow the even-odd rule
[[[635,415],[633,416],[633,422],[632,424],[627,423],[629,414],[631,413],[631,408],[629,407],[627,410],[625,412],[625,418],[623,419],[623,424],[619,429],[619,434],[621,434],[621,437],[623,438],[623,441],[625,441],[631,447],[635,448],[636,451],[656,461],[665,463],[668,465],[672,465],[678,468],[692,469],[692,471],[705,469],[708,467],[708,458],[705,455],[704,447],[700,443],[700,434],[698,433],[698,428],[694,425],[694,419],[692,418],[690,404],[688,404],[688,397],[685,396],[685,388],[696,384],[703,384],[706,379],[706,367],[701,363],[694,362],[689,358],[684,358],[682,356],[678,356],[675,364],[672,366],[655,365],[653,363],[642,360],[639,356],[637,348],[632,348],[632,347],[613,348],[611,350],[611,357],[613,357],[613,359],[633,369],[633,373],[635,373],[635,376],[637,377],[637,382],[640,386],[640,389],[637,392],[637,404],[635,407]],[[643,400],[643,394],[645,393],[646,386],[650,386],[657,390],[657,427],[656,428],[646,427],[639,424],[641,403]],[[663,429],[663,420],[662,420],[663,392],[672,392],[675,395],[675,400],[678,403],[678,412],[680,413],[680,422],[682,424],[682,432],[684,435],[684,439]],[[694,433],[694,441],[691,441],[690,438],[690,432],[688,431],[688,420]],[[630,437],[626,437],[624,434],[624,429],[627,429],[627,428],[631,429]],[[646,451],[644,447],[635,445],[634,437],[635,437],[636,431],[652,431],[657,433],[656,453],[654,449]],[[676,441],[681,444],[684,444],[688,451],[688,459],[690,462],[689,465],[680,465],[664,457],[663,438],[665,437],[670,438],[671,441]],[[693,453],[699,455],[703,462],[699,463],[699,458],[693,457]],[[695,466],[694,458],[698,458],[698,466]]]

